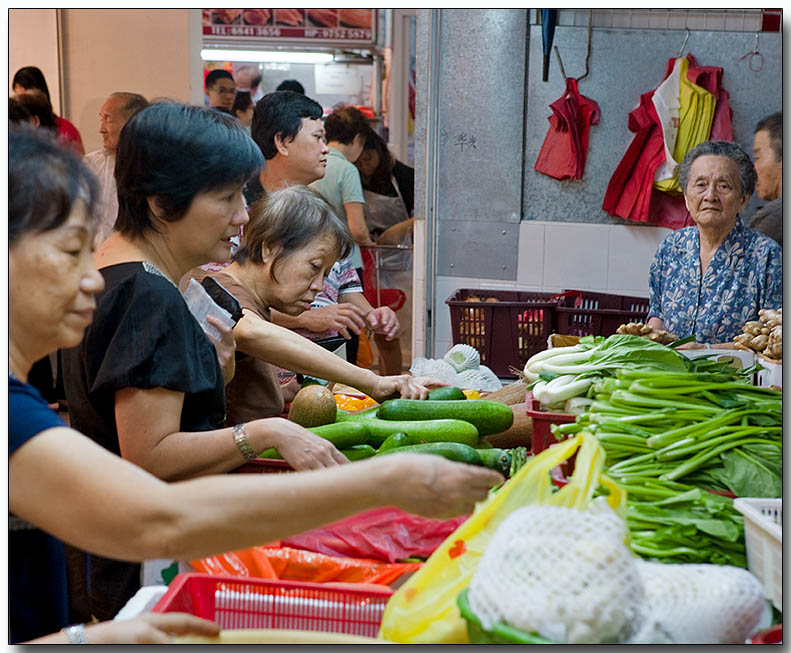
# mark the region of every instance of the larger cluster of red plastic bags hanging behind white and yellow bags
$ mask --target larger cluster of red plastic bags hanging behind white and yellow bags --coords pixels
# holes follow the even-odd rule
[[[722,68],[699,66],[691,54],[686,59],[686,78],[717,100],[709,138],[732,141],[733,111],[730,96],[721,86]],[[663,81],[675,62],[675,58],[668,59]],[[683,196],[653,188],[654,174],[666,160],[662,127],[652,101],[654,91],[641,95],[640,105],[629,114],[629,130],[635,136],[610,179],[602,208],[610,215],[679,229],[692,224]]]

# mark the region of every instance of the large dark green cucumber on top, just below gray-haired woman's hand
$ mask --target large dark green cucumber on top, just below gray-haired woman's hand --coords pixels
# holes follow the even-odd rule
[[[481,436],[500,433],[514,423],[510,406],[486,399],[389,399],[379,406],[376,414],[387,420],[461,419],[473,424]]]

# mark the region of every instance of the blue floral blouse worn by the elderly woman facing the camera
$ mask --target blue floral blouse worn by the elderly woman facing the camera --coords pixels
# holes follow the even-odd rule
[[[729,342],[759,309],[783,305],[782,257],[774,240],[737,217],[701,279],[698,228],[674,231],[651,263],[649,317],[680,338]]]

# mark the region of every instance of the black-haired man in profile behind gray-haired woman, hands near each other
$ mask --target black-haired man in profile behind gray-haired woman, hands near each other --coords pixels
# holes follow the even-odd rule
[[[256,104],[252,136],[266,159],[259,175],[265,192],[307,185],[324,176],[328,147],[321,116],[318,102],[293,91],[268,93]],[[272,311],[272,322],[312,339],[340,333],[349,341],[347,360],[352,363],[356,357],[350,355],[349,343],[361,330],[370,327],[393,336],[400,326],[391,309],[374,309],[365,299],[349,257],[332,266],[311,310],[299,316]]]

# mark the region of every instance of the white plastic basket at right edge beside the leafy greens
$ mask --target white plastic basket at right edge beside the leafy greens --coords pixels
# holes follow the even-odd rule
[[[763,583],[766,598],[783,609],[783,500],[734,499],[744,515],[747,567]]]

